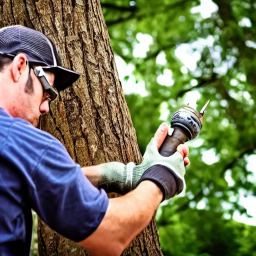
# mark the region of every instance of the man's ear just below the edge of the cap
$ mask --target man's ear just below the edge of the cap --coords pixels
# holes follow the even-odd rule
[[[12,61],[11,74],[14,82],[18,82],[23,72],[26,71],[27,57],[24,53],[17,54]],[[26,71],[27,72],[27,71]]]

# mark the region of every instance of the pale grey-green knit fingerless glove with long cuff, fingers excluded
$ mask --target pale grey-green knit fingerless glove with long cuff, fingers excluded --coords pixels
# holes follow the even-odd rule
[[[156,139],[152,138],[146,147],[142,162],[135,165],[134,162],[123,164],[120,162],[108,162],[101,165],[101,180],[99,186],[106,191],[126,193],[134,189],[142,174],[153,165],[163,165],[170,169],[174,175],[177,188],[181,192],[185,188],[185,167],[183,157],[179,152],[165,157],[160,155],[157,149]]]

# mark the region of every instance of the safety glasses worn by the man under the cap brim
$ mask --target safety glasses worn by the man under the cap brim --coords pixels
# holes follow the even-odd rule
[[[44,100],[48,98],[50,101],[54,100],[57,95],[58,91],[55,89],[54,85],[50,85],[48,79],[45,76],[45,72],[43,71],[41,66],[36,66],[33,68],[34,74],[38,77],[40,80],[42,87],[44,89]]]

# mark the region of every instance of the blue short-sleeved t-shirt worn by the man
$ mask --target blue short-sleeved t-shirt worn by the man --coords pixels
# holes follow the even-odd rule
[[[31,208],[73,241],[101,222],[108,198],[83,175],[63,145],[0,108],[0,255],[28,255]]]

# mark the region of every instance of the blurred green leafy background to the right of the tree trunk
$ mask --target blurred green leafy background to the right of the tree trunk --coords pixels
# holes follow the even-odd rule
[[[256,1],[101,6],[141,153],[184,103],[199,109],[211,100],[199,137],[188,142],[186,194],[157,211],[164,255],[255,256]]]

